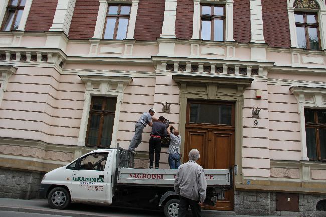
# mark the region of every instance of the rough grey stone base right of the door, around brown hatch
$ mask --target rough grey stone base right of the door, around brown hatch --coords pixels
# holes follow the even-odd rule
[[[299,211],[280,211],[280,207],[276,207],[275,192],[235,191],[234,211],[240,215],[326,216],[326,195],[299,194],[298,196]]]

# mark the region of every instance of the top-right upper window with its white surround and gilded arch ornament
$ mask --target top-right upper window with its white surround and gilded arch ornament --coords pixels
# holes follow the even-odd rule
[[[325,3],[322,0],[290,0],[288,7],[291,47],[308,50],[325,48],[326,18]]]

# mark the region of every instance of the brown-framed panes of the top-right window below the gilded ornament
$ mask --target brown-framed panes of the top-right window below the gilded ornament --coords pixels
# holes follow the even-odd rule
[[[316,13],[295,12],[295,26],[298,47],[319,50],[319,25]]]

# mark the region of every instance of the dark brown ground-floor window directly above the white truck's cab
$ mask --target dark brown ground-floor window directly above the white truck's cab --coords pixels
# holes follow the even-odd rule
[[[112,140],[116,98],[92,97],[86,146],[109,148]]]

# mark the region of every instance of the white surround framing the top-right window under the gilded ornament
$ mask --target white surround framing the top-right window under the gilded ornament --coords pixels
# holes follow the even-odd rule
[[[323,0],[314,0],[320,9],[296,9],[294,8],[293,4],[295,0],[288,0],[287,3],[287,11],[289,17],[289,25],[290,25],[290,36],[291,36],[291,47],[298,48],[298,42],[296,38],[296,28],[295,28],[295,18],[294,12],[295,11],[311,11],[318,13],[319,19],[319,33],[320,33],[320,40],[321,40],[321,48],[320,50],[326,49],[326,6]]]

